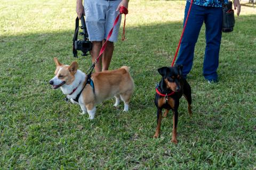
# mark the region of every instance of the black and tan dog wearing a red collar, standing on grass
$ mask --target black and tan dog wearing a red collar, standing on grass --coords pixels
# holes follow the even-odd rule
[[[162,109],[165,109],[164,117],[167,116],[170,109],[173,111],[173,129],[172,142],[177,143],[177,124],[178,124],[178,107],[182,95],[188,101],[189,116],[191,111],[191,88],[185,78],[182,77],[182,66],[175,65],[174,67],[162,67],[158,69],[162,75],[162,80],[156,87],[155,105],[157,107],[157,128],[154,138],[159,137]]]

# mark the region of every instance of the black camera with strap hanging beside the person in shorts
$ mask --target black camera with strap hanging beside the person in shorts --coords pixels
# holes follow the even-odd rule
[[[82,26],[79,27],[79,19],[76,18],[76,28],[73,38],[73,55],[74,57],[77,57],[77,50],[82,51],[82,56],[87,56],[87,52],[90,52],[92,49],[92,42],[89,41],[89,35],[86,29],[86,24],[84,20],[84,16],[81,16],[81,24]],[[83,36],[83,40],[77,39],[78,31],[79,29],[82,29],[83,32],[80,32],[79,35]]]

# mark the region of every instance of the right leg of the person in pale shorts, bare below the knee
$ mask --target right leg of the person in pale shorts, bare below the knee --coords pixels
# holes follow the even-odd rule
[[[103,43],[106,41],[108,33],[111,30],[111,28],[113,27],[116,16],[118,15],[119,11],[116,11],[116,8],[120,2],[121,2],[121,0],[108,2],[108,8],[106,11],[105,39],[103,40]],[[105,49],[105,52],[103,52],[102,71],[108,70],[108,67],[110,65],[111,58],[112,58],[113,52],[114,52],[114,42],[117,41],[120,24],[121,24],[121,16],[120,16],[116,26],[113,29],[113,32],[112,32],[111,37],[109,38],[109,41],[107,42],[107,47]]]

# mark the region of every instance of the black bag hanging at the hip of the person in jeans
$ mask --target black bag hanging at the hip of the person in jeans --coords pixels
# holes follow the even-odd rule
[[[222,3],[222,32],[232,32],[235,26],[235,14],[232,9],[232,2]]]

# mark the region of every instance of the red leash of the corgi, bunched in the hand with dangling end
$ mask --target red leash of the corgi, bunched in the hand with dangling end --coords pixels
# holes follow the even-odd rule
[[[95,59],[95,62],[96,62],[96,63],[99,62],[99,58],[100,58],[101,54],[105,51],[106,46],[107,46],[107,43],[108,43],[108,40],[109,40],[109,38],[110,38],[111,35],[112,35],[113,29],[114,29],[115,25],[117,24],[117,22],[118,22],[118,20],[119,20],[119,18],[120,18],[120,15],[122,15],[122,14],[124,14],[124,28],[125,28],[125,18],[126,18],[126,14],[128,14],[128,10],[127,10],[126,7],[121,6],[121,7],[120,7],[120,10],[119,10],[119,14],[116,16],[116,20],[115,20],[115,22],[114,22],[114,24],[113,24],[113,27],[112,27],[111,30],[109,31],[108,37],[107,37],[105,43],[103,44],[103,46],[102,46],[101,49],[100,49],[100,54],[99,54],[99,56]],[[125,30],[124,30],[124,28],[123,28],[122,40],[125,39],[125,36],[124,36]]]

